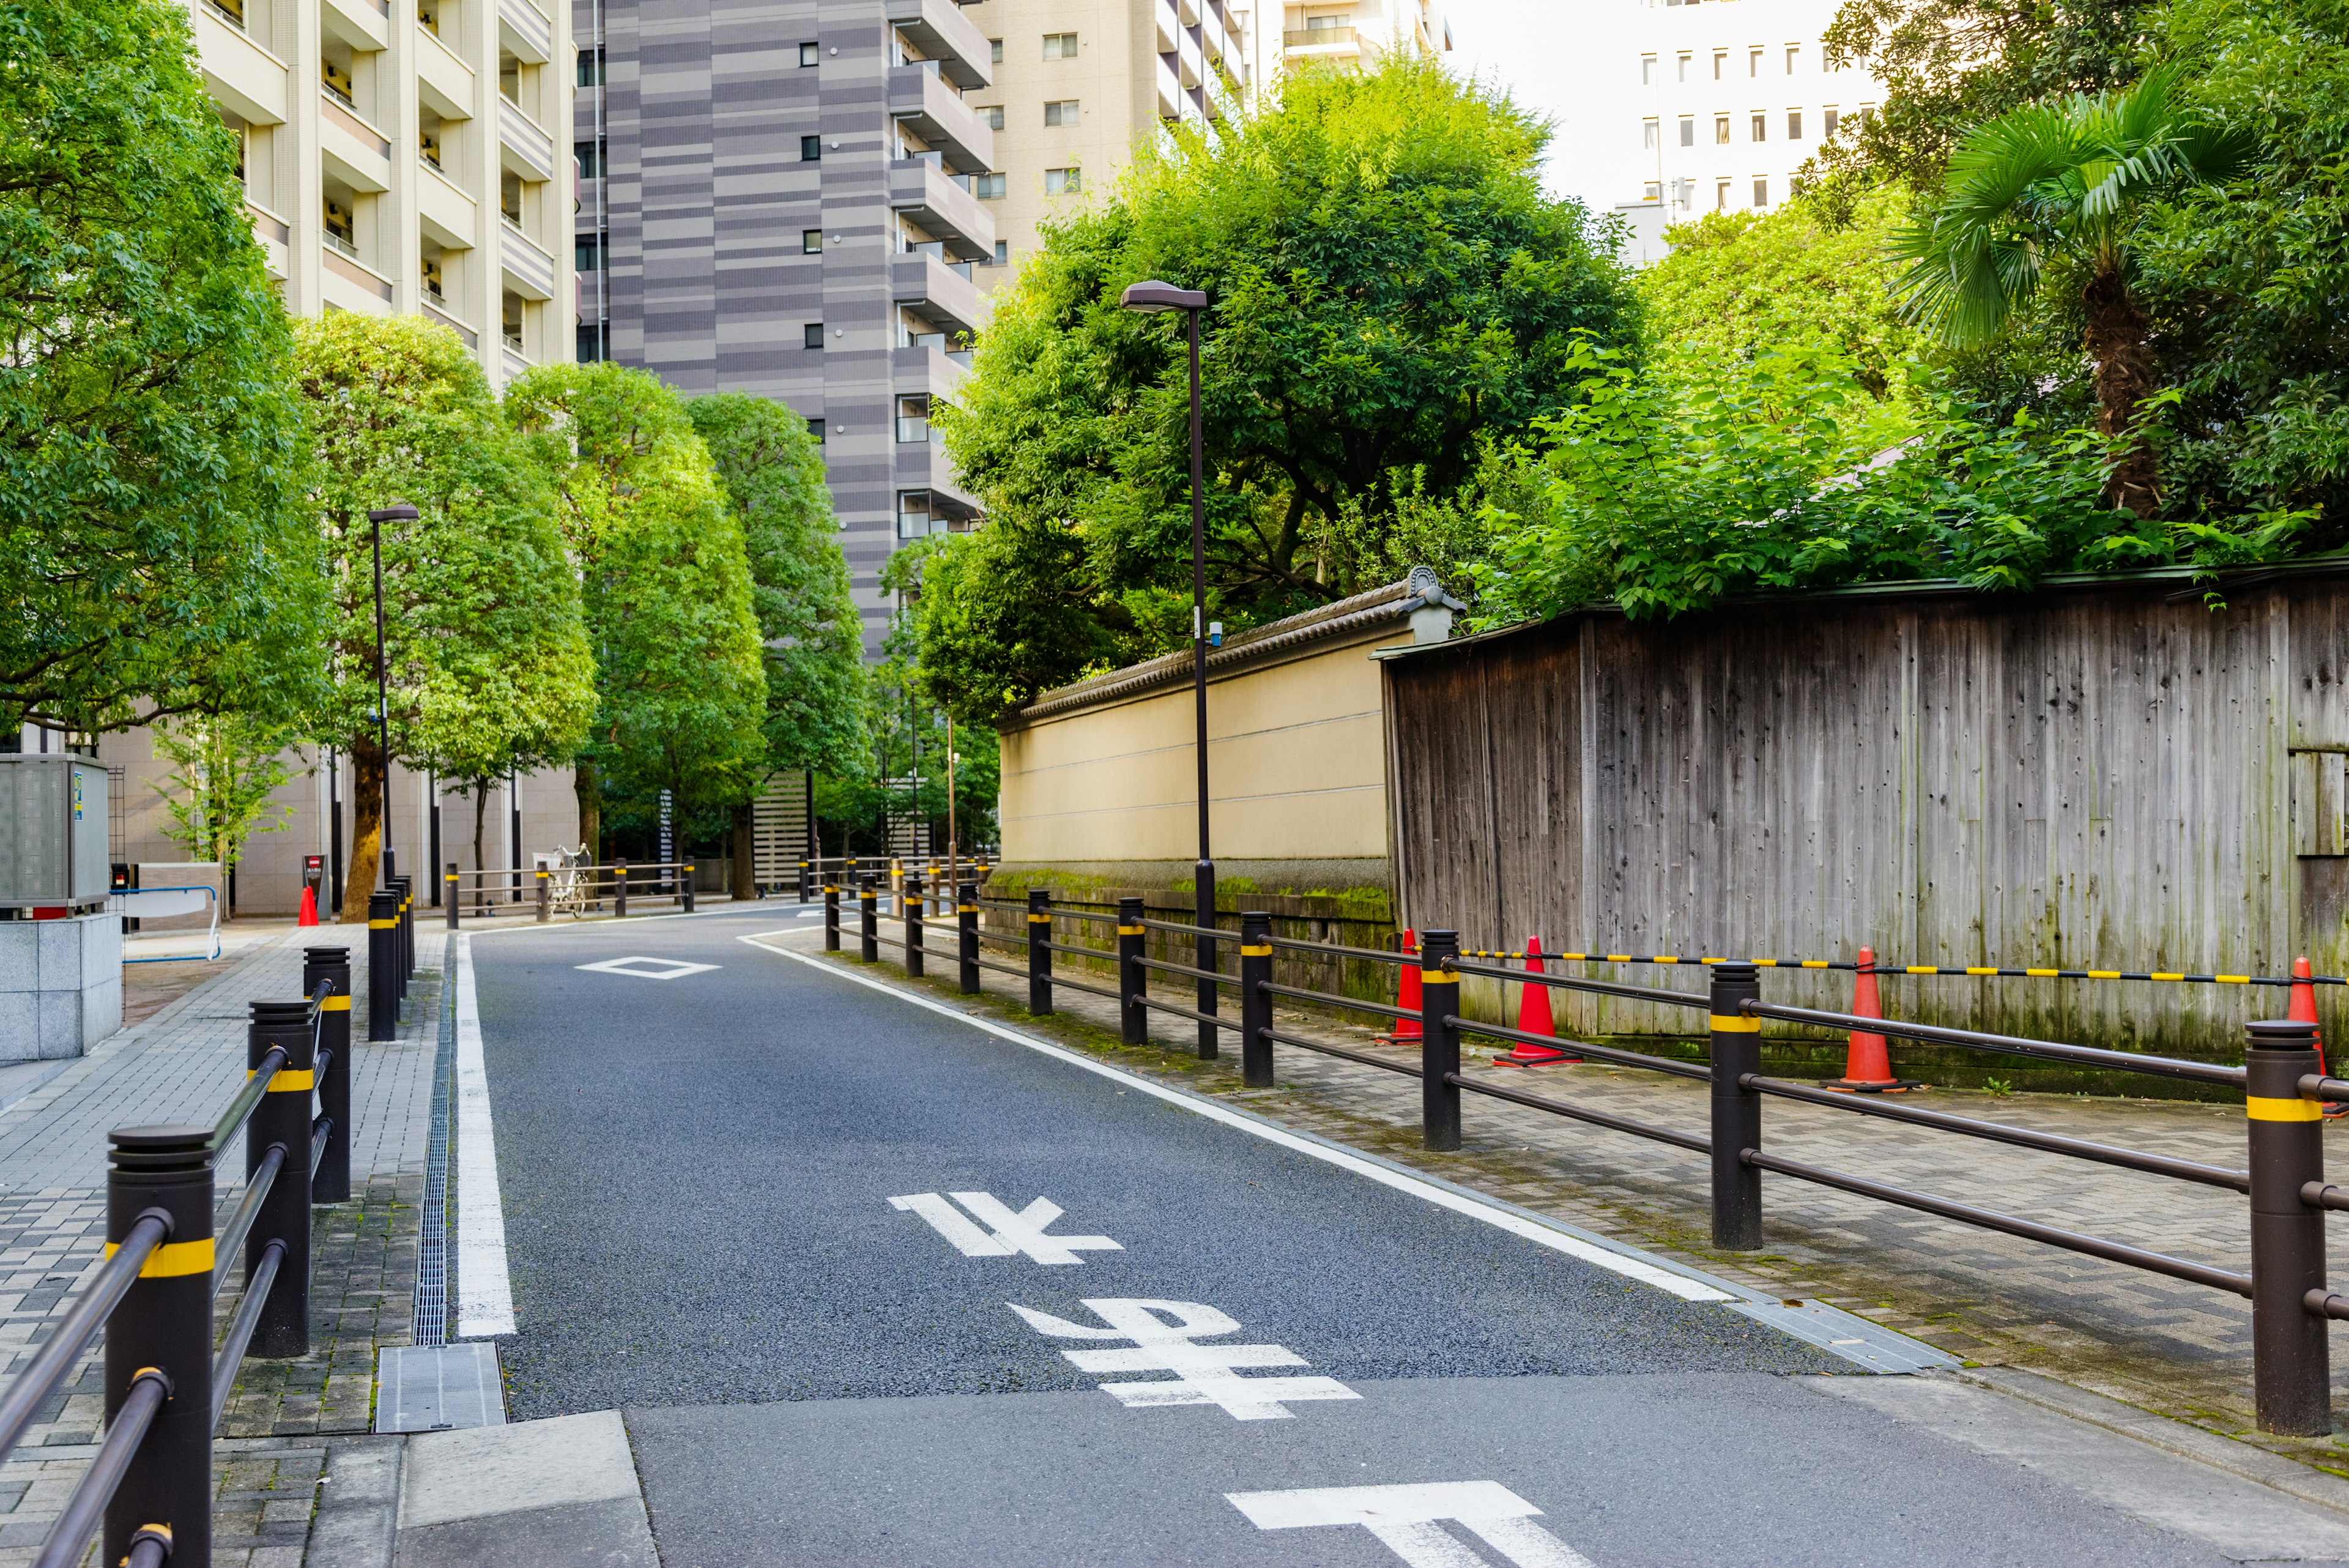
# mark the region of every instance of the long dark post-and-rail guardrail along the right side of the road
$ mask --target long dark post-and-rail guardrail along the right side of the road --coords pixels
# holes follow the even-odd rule
[[[876,943],[876,889],[871,877],[857,886],[860,900],[860,950],[864,961],[879,957]],[[977,929],[980,907],[1010,910],[1024,914],[1027,936],[989,933]],[[902,905],[907,912],[907,950],[918,950],[921,898]],[[1200,1025],[1200,1056],[1217,1056],[1217,1039],[1224,1032],[1240,1037],[1240,1074],[1250,1088],[1273,1086],[1273,1046],[1294,1046],[1337,1056],[1344,1060],[1381,1067],[1419,1079],[1421,1091],[1421,1140],[1428,1150],[1452,1152],[1461,1147],[1463,1095],[1485,1095],[1522,1105],[1527,1110],[1569,1117],[1590,1126],[1604,1126],[1633,1138],[1649,1138],[1680,1150],[1705,1154],[1710,1161],[1712,1244],[1724,1251],[1752,1251],[1762,1246],[1762,1173],[1788,1175],[1882,1204],[1896,1204],[1931,1213],[1959,1225],[2020,1237],[2093,1258],[2105,1258],[2133,1269],[2185,1279],[2250,1300],[2253,1316],[2253,1363],[2255,1406],[2260,1427],[2286,1434],[2323,1434],[2333,1429],[2330,1371],[2326,1321],[2349,1319],[2349,1295],[2326,1286],[2326,1211],[2349,1211],[2349,1187],[2333,1187],[2323,1180],[2323,1103],[2349,1103],[2349,1079],[2333,1079],[2321,1072],[2316,1051],[2316,1025],[2297,1020],[2257,1020],[2246,1025],[2246,1058],[2241,1067],[2225,1063],[2194,1063],[2168,1056],[2135,1056],[2126,1051],[2100,1051],[2053,1039],[2027,1039],[2015,1034],[1990,1034],[1983,1030],[1954,1030],[1943,1025],[1903,1023],[1898,1018],[1863,1018],[1825,1009],[1783,1006],[1762,999],[1762,964],[1752,961],[1705,961],[1705,992],[1677,992],[1649,985],[1626,985],[1616,980],[1586,980],[1550,976],[1522,969],[1494,969],[1466,959],[1454,931],[1421,933],[1419,952],[1377,952],[1369,947],[1339,947],[1330,943],[1297,943],[1271,933],[1271,917],[1243,912],[1238,931],[1203,929],[1184,922],[1144,917],[1142,898],[1120,898],[1118,914],[1106,917],[1083,910],[1055,910],[1045,891],[1031,889],[1027,903],[982,900],[975,882],[956,889],[956,940],[961,954],[961,990],[980,990],[980,971],[1022,976],[1029,983],[1029,1013],[1052,1013],[1052,987],[1076,985],[1104,994],[1118,1004],[1120,1037],[1125,1044],[1149,1039],[1151,1013],[1174,1013]],[[1076,917],[1085,922],[1116,922],[1116,950],[1088,947],[1055,938],[1055,919]],[[1205,969],[1151,959],[1144,943],[1151,931],[1172,938],[1191,938],[1203,950],[1212,945],[1238,947],[1238,973],[1221,966]],[[991,964],[977,957],[980,940],[1019,945],[1027,966]],[[895,945],[895,943],[893,943]],[[839,886],[827,886],[824,898],[824,947],[841,950]],[[1377,959],[1395,966],[1419,969],[1419,1011],[1315,992],[1297,985],[1273,983],[1273,952],[1304,950],[1334,957]],[[1116,987],[1097,987],[1055,973],[1052,959],[1078,957],[1113,961]],[[1499,954],[1494,954],[1499,957]],[[1823,964],[1813,964],[1823,966]],[[1151,973],[1186,976],[1200,983],[1203,1006],[1189,1009],[1149,994]],[[1628,997],[1661,1006],[1703,1011],[1705,1016],[1705,1063],[1687,1063],[1616,1046],[1586,1041],[1562,1041],[1503,1025],[1478,1023],[1461,1016],[1459,990],[1463,976],[1489,976],[1517,985],[1543,985],[1557,990],[1593,992],[1604,997]],[[2168,976],[2161,976],[2168,978]],[[1240,1018],[1233,1023],[1214,1009],[1219,990],[1240,992]],[[1322,1009],[1344,1009],[1398,1018],[1419,1025],[1419,1063],[1353,1051],[1332,1041],[1318,1041],[1276,1027],[1276,1001],[1306,1001]],[[2001,1056],[2037,1056],[2046,1060],[2093,1065],[2112,1072],[2140,1072],[2152,1077],[2192,1079],[2241,1088],[2246,1095],[2246,1168],[2208,1166],[2170,1154],[2123,1150],[2116,1145],[2062,1138],[2034,1128],[1959,1117],[1952,1112],[1924,1110],[1919,1105],[1896,1105],[1875,1095],[1832,1093],[1809,1084],[1773,1079],[1762,1072],[1762,1020],[1806,1023],[1837,1030],[1860,1030],[1893,1034],[1900,1039],[1924,1039],[1943,1046],[1990,1051]],[[1710,1086],[1710,1119],[1703,1133],[1651,1126],[1593,1105],[1576,1105],[1564,1098],[1532,1093],[1503,1081],[1468,1077],[1461,1072],[1461,1037],[1480,1034],[1536,1046],[1571,1046],[1576,1053],[1637,1067],[1680,1079],[1701,1079]],[[1931,1133],[1983,1138],[2013,1147],[2116,1166],[2142,1175],[2194,1182],[2241,1192],[2250,1199],[2250,1274],[2210,1267],[2189,1258],[2131,1246],[2109,1237],[2088,1237],[2053,1225],[2041,1225],[2020,1215],[1957,1204],[1929,1192],[1912,1192],[1877,1182],[1858,1173],[1832,1171],[1799,1159],[1773,1154],[1762,1140],[1762,1105],[1766,1098],[1797,1100],[1820,1110],[1837,1110],[1860,1117],[1898,1121]]]

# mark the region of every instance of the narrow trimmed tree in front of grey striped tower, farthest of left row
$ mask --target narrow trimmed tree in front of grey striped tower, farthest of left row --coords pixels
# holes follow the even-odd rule
[[[867,748],[864,628],[848,595],[824,454],[806,421],[768,397],[686,404],[742,527],[766,668],[766,755],[752,785],[787,769],[853,771]],[[756,893],[752,802],[733,806],[733,893]]]

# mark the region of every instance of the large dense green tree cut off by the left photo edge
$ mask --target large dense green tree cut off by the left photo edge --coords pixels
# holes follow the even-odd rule
[[[0,731],[317,696],[284,310],[174,0],[0,5]]]

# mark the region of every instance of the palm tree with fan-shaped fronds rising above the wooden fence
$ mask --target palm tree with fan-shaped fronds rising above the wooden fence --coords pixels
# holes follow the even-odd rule
[[[1973,127],[1950,155],[1940,202],[1891,244],[1910,320],[1952,348],[1994,339],[2037,292],[2051,259],[2086,273],[2081,341],[2095,362],[2098,428],[2123,437],[2154,390],[2145,310],[2128,294],[2145,209],[2222,179],[2246,136],[2173,101],[2178,68],[2116,94],[2032,103]],[[2105,498],[2152,515],[2154,454],[2140,437],[2114,463]]]

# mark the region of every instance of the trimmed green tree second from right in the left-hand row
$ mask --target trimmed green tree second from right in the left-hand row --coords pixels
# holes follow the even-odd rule
[[[550,475],[594,646],[573,788],[601,846],[611,790],[740,799],[761,771],[766,675],[742,524],[684,402],[620,364],[540,364],[505,411]]]

